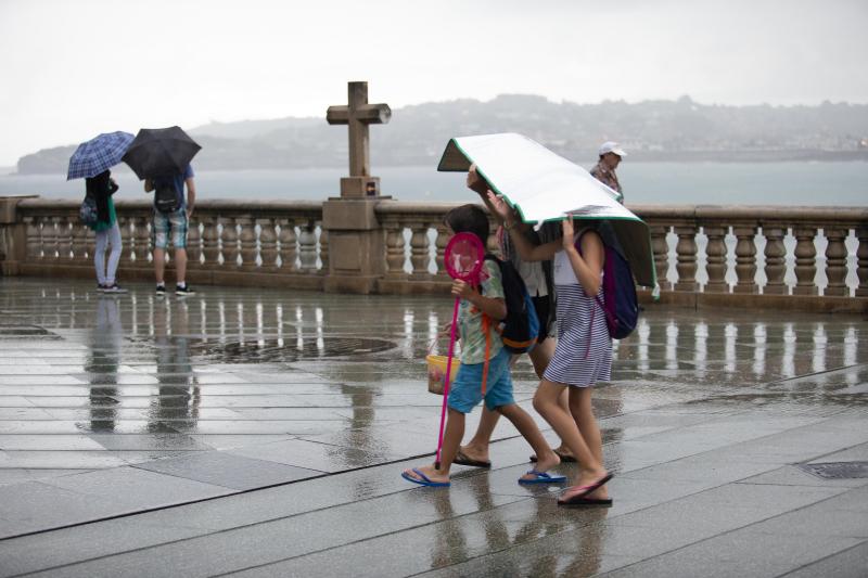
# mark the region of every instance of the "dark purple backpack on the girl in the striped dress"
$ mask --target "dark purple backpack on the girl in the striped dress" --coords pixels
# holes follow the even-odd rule
[[[576,241],[582,254],[583,231]],[[603,300],[595,296],[605,313],[605,326],[613,339],[623,339],[636,329],[639,321],[639,299],[636,297],[636,282],[627,259],[621,252],[603,241],[605,264],[603,265]]]

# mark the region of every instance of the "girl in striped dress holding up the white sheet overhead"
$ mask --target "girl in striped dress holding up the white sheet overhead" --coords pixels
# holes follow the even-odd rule
[[[515,234],[518,218],[506,203],[494,193],[489,200],[523,260],[554,259],[558,346],[534,396],[534,408],[578,462],[575,485],[561,493],[558,504],[612,505],[605,489],[612,475],[603,466],[602,438],[590,402],[592,386],[609,381],[612,371],[612,339],[605,313],[595,298],[603,297],[603,242],[592,230],[576,235],[573,220],[567,218],[562,239],[534,246]],[[569,412],[558,404],[564,388],[569,389]]]

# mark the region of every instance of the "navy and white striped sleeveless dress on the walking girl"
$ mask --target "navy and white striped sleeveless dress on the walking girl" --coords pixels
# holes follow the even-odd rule
[[[587,387],[612,378],[612,339],[605,313],[585,295],[565,251],[554,255],[554,293],[558,307],[558,346],[544,378]],[[599,292],[603,299],[602,285]]]

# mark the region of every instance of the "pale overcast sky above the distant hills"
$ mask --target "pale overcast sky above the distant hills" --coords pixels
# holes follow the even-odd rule
[[[866,0],[0,0],[0,166],[99,132],[554,101],[868,102]]]

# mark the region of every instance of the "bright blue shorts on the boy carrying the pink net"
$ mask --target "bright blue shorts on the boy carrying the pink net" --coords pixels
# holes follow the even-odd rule
[[[512,377],[509,360],[512,356],[501,349],[488,361],[488,378],[485,383],[485,407],[494,411],[501,406],[515,403],[512,397]],[[482,370],[485,363],[461,363],[455,383],[449,385],[448,406],[455,411],[470,413],[480,404],[482,397]]]

